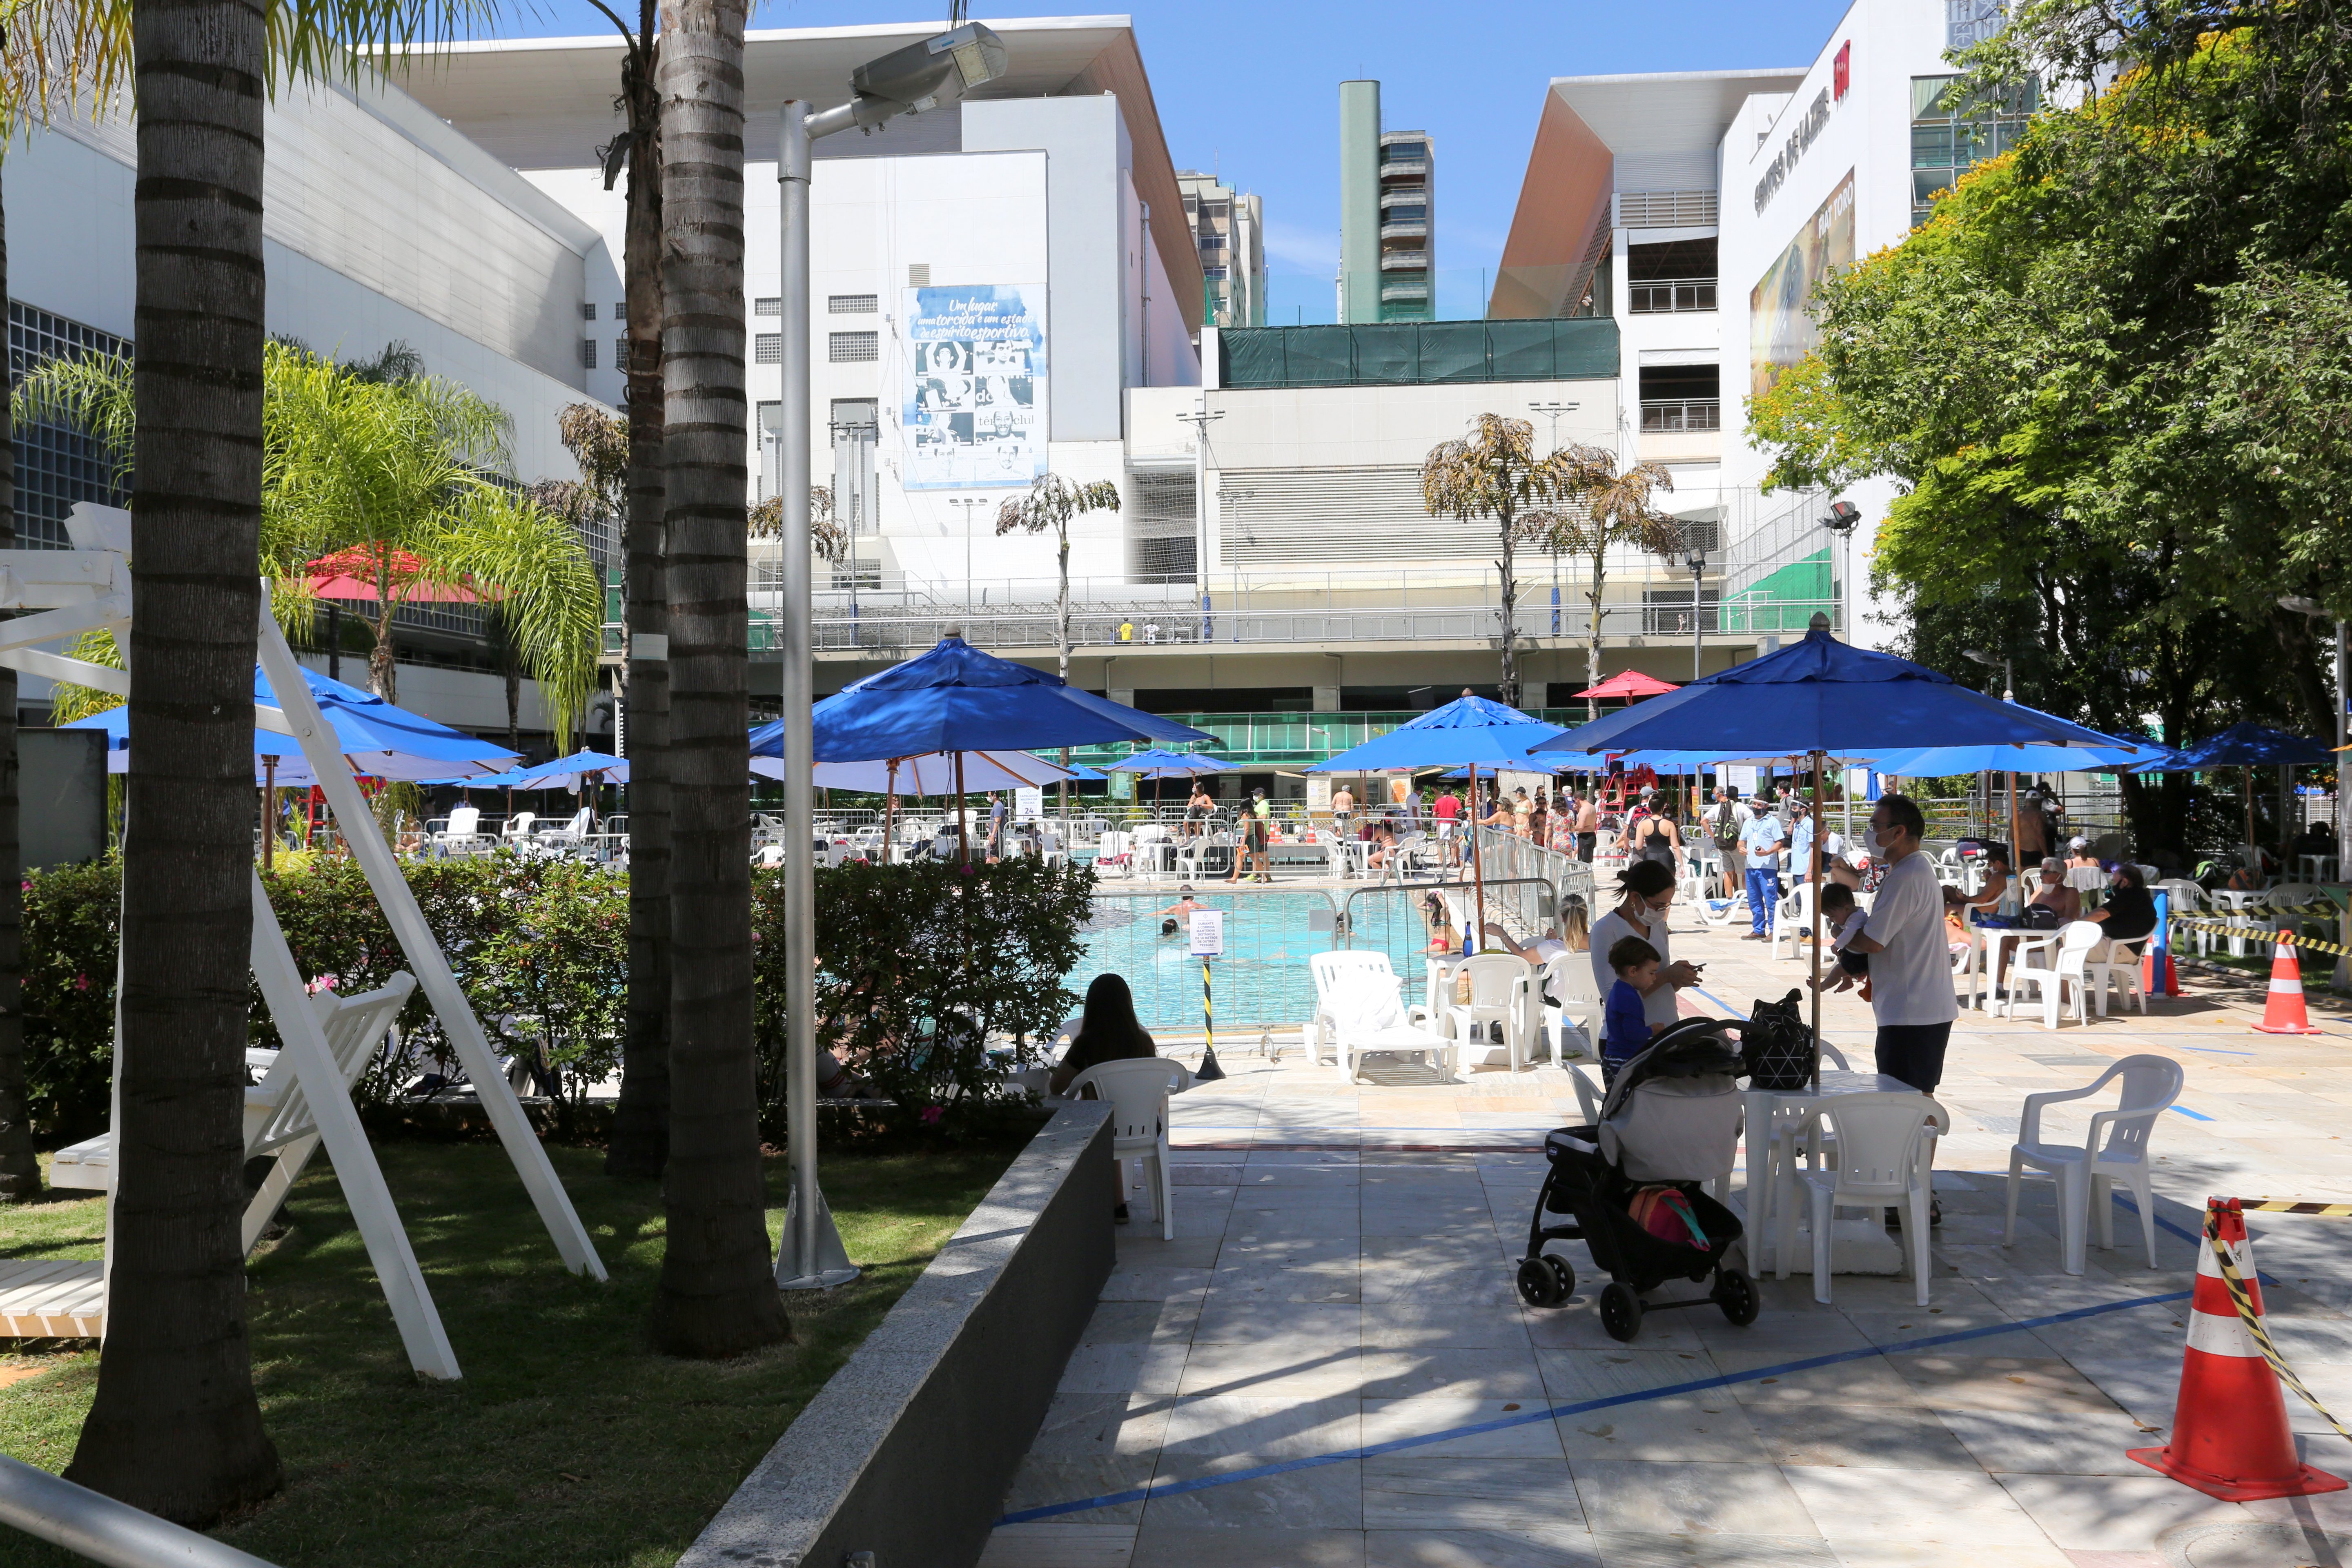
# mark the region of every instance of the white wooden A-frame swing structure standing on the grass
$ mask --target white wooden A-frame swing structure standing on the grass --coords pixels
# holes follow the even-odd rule
[[[38,646],[85,630],[111,630],[115,642],[125,651],[129,649],[129,512],[82,503],[73,508],[68,531],[73,550],[0,550],[0,609],[40,611],[0,623],[0,663],[28,675],[129,696],[125,670],[47,654]],[[263,1081],[247,1093],[247,1152],[275,1154],[275,1166],[247,1208],[245,1246],[252,1248],[259,1239],[310,1152],[325,1147],[336,1180],[343,1185],[353,1222],[367,1244],[369,1262],[376,1267],[376,1279],[383,1284],[383,1298],[393,1307],[409,1363],[428,1378],[456,1378],[456,1352],[433,1309],[433,1295],[416,1267],[393,1194],[383,1185],[383,1171],[376,1166],[360,1114],[350,1105],[350,1084],[365,1070],[374,1041],[383,1037],[407,1001],[412,985],[423,987],[442,1032],[466,1067],[466,1077],[473,1079],[482,1098],[482,1110],[506,1145],[515,1173],[555,1239],[564,1267],[574,1274],[604,1279],[604,1265],[555,1178],[555,1166],[522,1114],[522,1103],[508,1086],[482,1023],[466,1004],[466,992],[449,971],[449,959],[433,940],[423,910],[416,907],[416,898],[400,875],[400,863],[376,830],[350,764],[336,750],[334,729],[320,715],[310,684],[294,661],[294,649],[287,646],[270,618],[266,595],[268,585],[263,583],[261,670],[278,696],[278,708],[256,703],[254,724],[301,743],[303,759],[318,776],[327,806],[343,830],[343,842],[367,875],[414,978],[400,976],[390,987],[367,997],[310,997],[261,877],[254,877],[254,978],[285,1046],[268,1063]],[[120,1056],[118,1037],[118,1084]],[[96,1150],[82,1145],[75,1154],[73,1164],[80,1164],[85,1173],[94,1171]],[[103,1166],[106,1178],[99,1185],[113,1194],[111,1140],[103,1150]],[[106,1326],[103,1293],[106,1269],[99,1262],[0,1262],[0,1333],[99,1335]]]

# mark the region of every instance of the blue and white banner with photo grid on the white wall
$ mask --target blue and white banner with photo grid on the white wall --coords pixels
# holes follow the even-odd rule
[[[906,292],[906,487],[1025,487],[1044,473],[1044,284]]]

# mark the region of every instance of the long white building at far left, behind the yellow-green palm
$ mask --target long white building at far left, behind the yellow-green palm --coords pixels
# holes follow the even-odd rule
[[[397,89],[285,87],[263,134],[268,329],[346,360],[407,343],[430,374],[513,416],[515,477],[579,477],[555,418],[609,390],[579,360],[583,310],[619,299],[597,230]],[[59,118],[9,148],[14,374],[59,353],[136,348],[134,165],[127,118]],[[19,428],[19,538],[64,548],[75,501],[120,501],[99,451],[71,430]],[[419,661],[402,670],[402,701],[503,733],[506,684],[487,672],[468,611],[419,607],[400,628],[405,661]],[[365,661],[346,663],[346,677],[365,679],[355,668]],[[33,677],[21,691],[35,712],[47,701]],[[546,724],[534,682],[522,724]]]

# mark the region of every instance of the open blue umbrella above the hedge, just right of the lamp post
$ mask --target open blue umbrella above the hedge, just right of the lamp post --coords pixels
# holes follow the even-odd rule
[[[1214,741],[1124,703],[1065,684],[1058,675],[983,654],[948,632],[929,654],[842,686],[809,710],[816,762],[887,762],[948,752],[1028,752],[1105,741]],[[783,719],[750,733],[760,757],[783,755]],[[955,790],[957,839],[964,788]],[[957,858],[969,858],[969,844]]]

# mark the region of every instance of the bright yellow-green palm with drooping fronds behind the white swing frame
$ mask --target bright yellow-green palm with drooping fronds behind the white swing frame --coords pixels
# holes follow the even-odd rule
[[[386,364],[405,360],[386,350],[353,367],[299,343],[263,348],[261,564],[278,578],[273,607],[289,625],[308,625],[320,562],[360,578],[374,592],[353,609],[376,635],[369,686],[395,703],[400,607],[445,590],[494,599],[553,729],[569,736],[595,691],[604,618],[588,552],[560,515],[503,477],[508,418],[496,404]],[[92,430],[132,480],[139,421],[129,360],[52,360],[26,376],[16,402]]]

